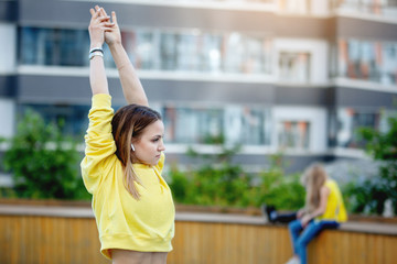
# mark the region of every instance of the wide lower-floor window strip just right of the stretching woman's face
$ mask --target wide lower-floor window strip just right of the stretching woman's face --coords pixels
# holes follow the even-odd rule
[[[165,141],[183,144],[270,143],[270,118],[266,109],[250,107],[162,108]]]

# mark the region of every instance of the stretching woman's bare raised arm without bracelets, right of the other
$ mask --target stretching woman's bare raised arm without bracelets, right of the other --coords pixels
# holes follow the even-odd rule
[[[97,9],[98,10],[98,9]],[[107,16],[104,9],[101,15]],[[116,12],[111,12],[112,26],[105,33],[105,41],[108,44],[115,64],[117,66],[124,96],[128,103],[149,106],[144,89],[138,78],[138,75],[130,62],[126,50],[121,43],[120,28],[117,23]]]

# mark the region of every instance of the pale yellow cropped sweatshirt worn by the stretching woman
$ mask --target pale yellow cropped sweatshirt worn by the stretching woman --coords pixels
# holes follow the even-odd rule
[[[143,185],[137,185],[140,200],[133,199],[124,185],[122,165],[115,154],[112,117],[111,97],[95,95],[81,167],[84,185],[93,195],[100,252],[108,258],[111,258],[110,249],[169,252],[175,208],[171,190],[161,177],[164,154],[155,166],[133,164]]]

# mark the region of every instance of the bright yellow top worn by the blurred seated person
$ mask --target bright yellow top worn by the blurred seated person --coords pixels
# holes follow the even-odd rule
[[[337,184],[333,179],[328,179],[325,186],[330,189],[330,195],[326,201],[325,212],[315,218],[316,220],[334,220],[336,222],[347,221],[347,213],[343,204],[343,197]]]

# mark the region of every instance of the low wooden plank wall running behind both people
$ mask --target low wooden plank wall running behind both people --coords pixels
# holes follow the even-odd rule
[[[110,263],[99,253],[90,209],[86,215],[58,217],[53,209],[45,210],[50,213],[24,213],[23,209],[14,213],[0,208],[0,263]],[[203,220],[189,213],[176,218],[169,264],[281,264],[291,256],[285,226],[265,224],[254,217],[251,221],[213,218],[207,215]],[[396,232],[332,230],[309,245],[309,264],[391,264],[396,260]]]

